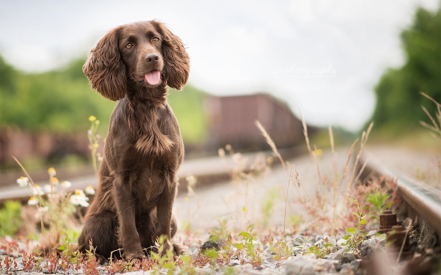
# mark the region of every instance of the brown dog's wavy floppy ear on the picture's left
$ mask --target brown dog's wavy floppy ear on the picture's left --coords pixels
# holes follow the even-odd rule
[[[90,50],[83,72],[92,89],[107,99],[123,99],[127,88],[126,66],[118,49],[118,29],[108,32],[97,46]]]

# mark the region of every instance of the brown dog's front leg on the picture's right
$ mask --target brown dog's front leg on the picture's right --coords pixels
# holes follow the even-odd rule
[[[166,177],[167,178],[167,177]],[[172,220],[172,208],[173,202],[176,196],[176,176],[171,176],[173,180],[165,180],[166,184],[164,191],[159,195],[157,203],[157,226],[156,234],[153,235],[153,242],[161,235],[166,235],[168,240],[171,239],[171,220]],[[168,242],[164,242],[163,251],[167,251],[169,248]]]

